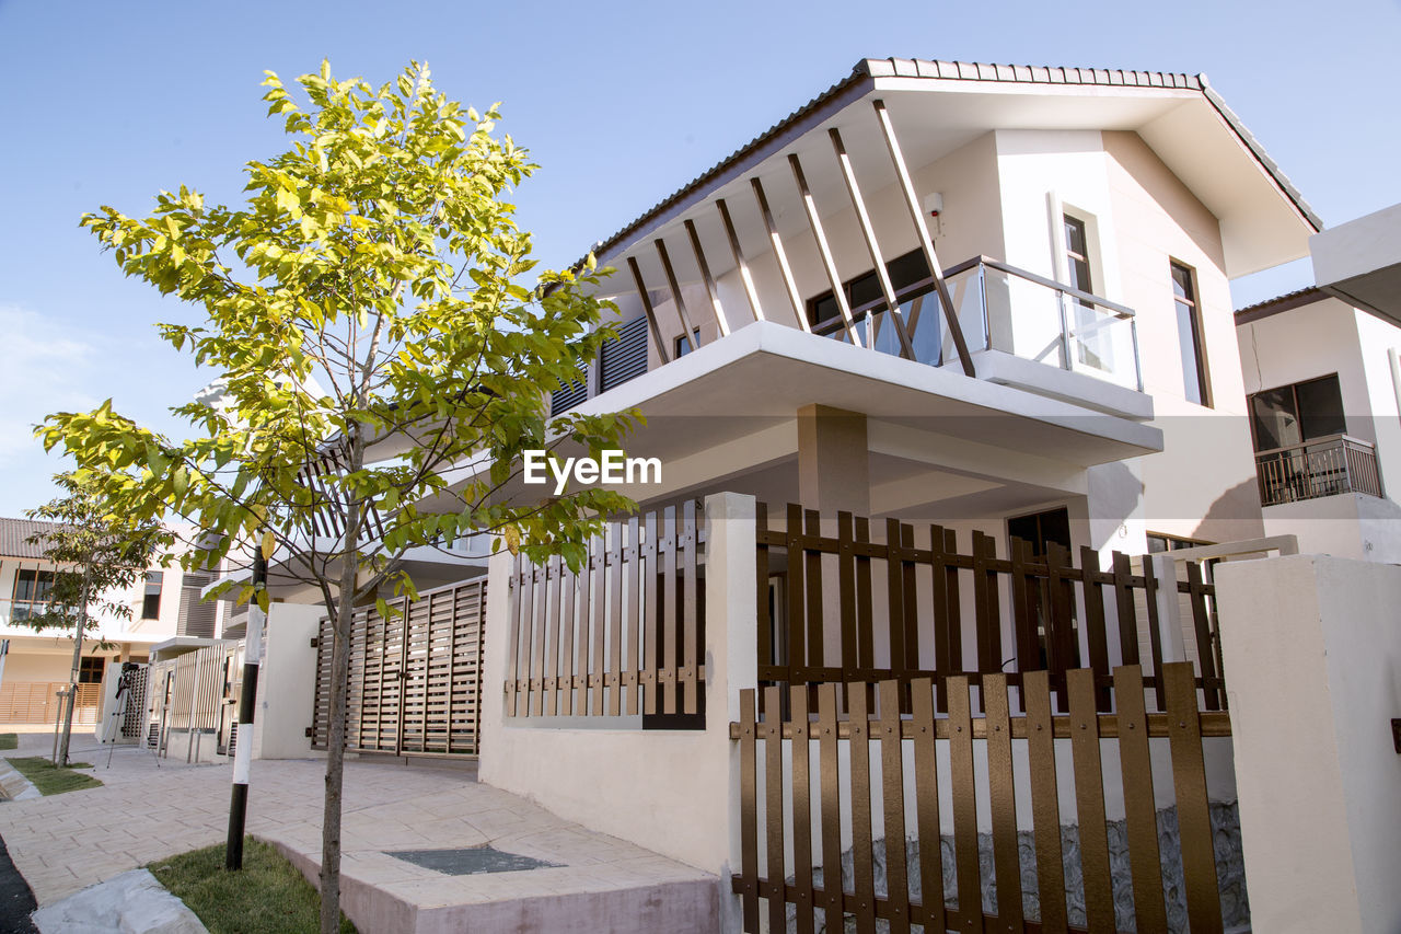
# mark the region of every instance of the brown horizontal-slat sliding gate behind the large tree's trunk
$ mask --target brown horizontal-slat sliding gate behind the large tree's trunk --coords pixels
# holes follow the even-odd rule
[[[385,620],[354,614],[346,696],[346,752],[461,756],[478,752],[482,624],[486,581],[399,597]],[[317,700],[311,745],[325,749],[331,725],[331,618],[317,638]]]

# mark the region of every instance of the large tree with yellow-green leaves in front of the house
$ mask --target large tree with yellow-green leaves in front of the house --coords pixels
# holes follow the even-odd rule
[[[273,73],[269,115],[290,147],[248,163],[247,205],[161,192],[153,216],[112,208],[88,227],[127,275],[199,306],[202,325],[164,338],[219,372],[221,393],[172,410],[177,440],[112,411],[59,414],[48,446],[108,464],[108,501],[178,513],[212,533],[191,561],[213,568],[261,548],[279,574],[315,585],[332,613],[332,693],[322,836],[322,931],[336,930],[342,747],[354,607],[413,595],[398,565],[416,546],[492,533],[532,560],[577,568],[600,516],[635,508],[604,488],[509,499],[525,450],[621,446],[635,412],[549,418],[549,391],[579,377],[612,328],[583,286],[590,258],[535,273],[531,238],[506,194],[535,168],[485,114],[433,90],[412,63],[373,88],[328,63],[297,79],[303,109]],[[468,459],[489,468],[467,480]],[[312,475],[318,474],[312,481]],[[432,508],[426,499],[432,496]],[[367,522],[382,536],[367,536]],[[335,534],[325,534],[326,526]],[[319,532],[319,534],[318,534]],[[377,527],[378,532],[378,527]],[[238,599],[266,590],[248,585]]]

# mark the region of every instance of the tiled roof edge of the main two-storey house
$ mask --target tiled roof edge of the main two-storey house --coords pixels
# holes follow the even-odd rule
[[[836,81],[811,101],[797,108],[782,121],[764,130],[752,140],[734,150],[692,181],[686,182],[667,198],[661,199],[637,219],[614,233],[607,240],[597,243],[593,252],[598,257],[607,255],[615,247],[625,244],[633,234],[643,230],[670,209],[685,201],[696,189],[722,177],[737,163],[743,161],[757,150],[771,144],[793,130],[797,123],[814,112],[836,111],[850,102],[849,97],[860,97],[860,86],[874,79],[884,77],[912,77],[954,81],[993,81],[993,83],[1021,83],[1021,84],[1061,84],[1061,86],[1101,86],[1101,87],[1140,87],[1166,90],[1194,90],[1202,95],[1220,114],[1222,119],[1240,137],[1254,158],[1279,185],[1285,196],[1289,198],[1307,219],[1314,230],[1323,230],[1323,220],[1304,201],[1303,195],[1279,170],[1279,165],[1269,158],[1264,147],[1240,122],[1240,118],[1226,107],[1226,102],[1209,86],[1205,74],[1184,74],[1171,72],[1126,72],[1122,69],[1082,69],[1082,67],[1049,67],[1027,65],[988,65],[982,62],[943,62],[925,59],[862,59],[850,74]],[[869,86],[867,86],[869,87]],[[849,94],[857,88],[857,93]],[[580,258],[579,266],[584,264]]]

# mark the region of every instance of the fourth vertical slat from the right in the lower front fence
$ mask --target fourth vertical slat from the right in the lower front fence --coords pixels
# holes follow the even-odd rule
[[[1061,854],[1061,805],[1056,788],[1055,728],[1051,719],[1051,679],[1047,672],[1024,672],[1021,691],[1027,708],[1027,764],[1031,773],[1031,826],[1037,847],[1037,886],[1041,930],[1063,934],[1065,862]]]

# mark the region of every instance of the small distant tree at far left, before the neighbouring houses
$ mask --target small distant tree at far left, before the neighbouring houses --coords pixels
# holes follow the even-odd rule
[[[67,766],[84,632],[97,625],[97,614],[132,617],[130,603],[112,597],[132,586],[172,536],[160,522],[106,509],[99,474],[78,470],[53,480],[67,495],[25,513],[53,523],[28,539],[56,565],[53,583],[43,610],[17,621],[41,632],[73,630],[73,672],[55,757],[56,766]]]

